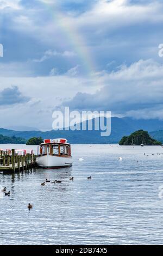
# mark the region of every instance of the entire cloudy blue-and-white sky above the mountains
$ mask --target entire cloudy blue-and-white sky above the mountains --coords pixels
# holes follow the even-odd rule
[[[0,127],[55,109],[163,119],[162,0],[0,0]]]

